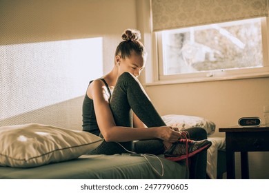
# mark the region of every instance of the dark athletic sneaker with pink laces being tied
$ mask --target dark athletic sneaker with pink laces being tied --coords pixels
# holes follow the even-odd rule
[[[207,150],[211,145],[212,142],[207,139],[201,141],[194,141],[187,138],[179,139],[177,142],[172,143],[171,147],[164,152],[164,156],[171,161],[181,161],[194,156],[202,150]]]

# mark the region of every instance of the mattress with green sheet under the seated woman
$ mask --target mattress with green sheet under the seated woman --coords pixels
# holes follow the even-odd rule
[[[0,166],[0,179],[186,179],[185,162],[162,157],[82,155],[78,159],[39,167]]]

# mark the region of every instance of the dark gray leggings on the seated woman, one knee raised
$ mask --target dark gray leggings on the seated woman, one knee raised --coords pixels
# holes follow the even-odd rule
[[[132,127],[132,111],[137,114],[139,119],[148,128],[166,125],[150,102],[150,99],[148,99],[141,83],[129,72],[124,72],[117,80],[110,100],[110,109],[118,126]],[[196,141],[207,138],[206,131],[203,128],[190,128],[186,130],[189,132],[190,138]],[[164,152],[163,141],[160,139],[123,142],[121,145],[127,150],[137,153],[157,155]],[[126,150],[121,145],[103,141],[92,154],[126,153]],[[201,152],[190,159],[190,178],[206,178],[206,152]]]

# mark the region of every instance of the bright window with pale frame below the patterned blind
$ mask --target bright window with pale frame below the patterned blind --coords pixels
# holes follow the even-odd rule
[[[266,18],[156,32],[159,81],[269,74]]]

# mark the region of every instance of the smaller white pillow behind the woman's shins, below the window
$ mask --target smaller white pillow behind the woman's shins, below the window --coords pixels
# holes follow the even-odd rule
[[[215,132],[215,128],[216,128],[215,123],[199,116],[167,114],[167,115],[161,116],[161,118],[166,123],[166,125],[173,128],[179,128],[179,130],[199,127],[199,128],[204,128],[207,134],[210,135]]]

